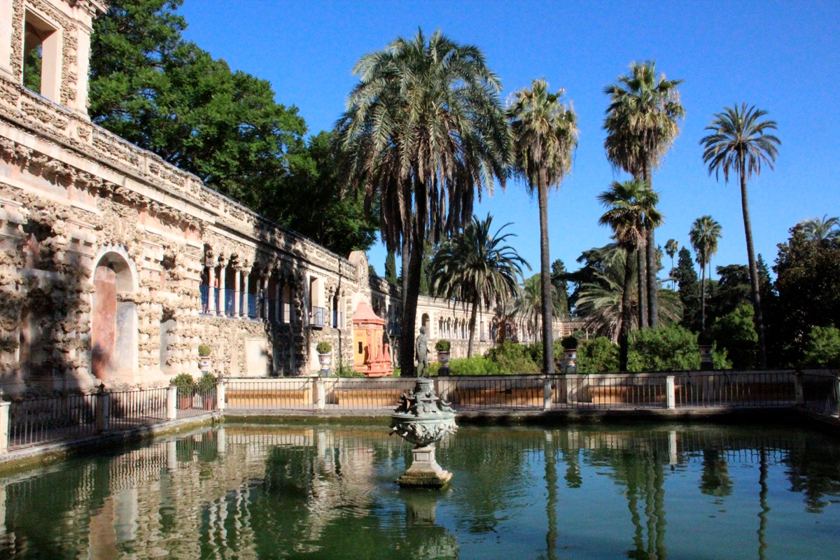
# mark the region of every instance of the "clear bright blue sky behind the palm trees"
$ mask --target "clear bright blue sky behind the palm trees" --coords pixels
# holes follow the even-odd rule
[[[331,128],[356,83],[360,56],[399,35],[441,29],[484,50],[501,78],[502,99],[534,78],[565,89],[580,127],[571,175],[549,197],[551,259],[575,270],[580,252],[609,242],[597,225],[596,195],[623,180],[606,161],[604,86],[633,60],[656,60],[681,78],[686,117],[654,173],[665,224],[657,242],[688,245],[690,224],[710,214],[723,237],[712,264],[746,264],[740,192],[708,176],[699,140],[713,113],[735,102],[763,108],[779,124],[775,170],[749,184],[757,252],[772,264],[776,244],[808,217],[840,215],[840,3],[837,2],[210,2],[180,8],[195,41],[234,68],[269,80],[276,99],[295,105],[310,133]],[[538,207],[511,182],[475,207],[539,266]],[[383,272],[385,252],[369,252]],[[666,267],[669,266],[665,259]]]

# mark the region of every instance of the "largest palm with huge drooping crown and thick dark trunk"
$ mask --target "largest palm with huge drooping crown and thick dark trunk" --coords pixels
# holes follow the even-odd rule
[[[418,30],[363,56],[359,83],[336,123],[349,181],[379,207],[382,240],[402,254],[402,337],[414,333],[423,244],[472,217],[473,200],[504,186],[511,160],[501,82],[475,46]],[[413,344],[400,367],[413,371]]]

